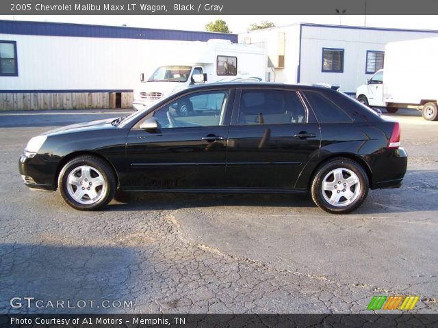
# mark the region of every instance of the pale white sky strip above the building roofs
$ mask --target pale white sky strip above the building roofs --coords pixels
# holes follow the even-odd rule
[[[246,31],[252,23],[268,20],[276,26],[293,23],[320,23],[333,25],[352,25],[367,27],[393,27],[402,29],[435,29],[438,30],[438,15],[300,15],[300,16],[146,16],[146,15],[0,15],[1,20],[34,20],[61,23],[81,23],[95,25],[127,25],[129,27],[150,27],[157,29],[183,29],[188,31],[204,31],[205,25],[216,19],[227,22],[233,33]],[[366,25],[365,25],[366,24]]]

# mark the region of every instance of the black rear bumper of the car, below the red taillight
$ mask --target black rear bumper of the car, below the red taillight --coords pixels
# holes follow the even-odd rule
[[[400,188],[408,166],[408,155],[404,148],[385,150],[375,160],[371,189]]]

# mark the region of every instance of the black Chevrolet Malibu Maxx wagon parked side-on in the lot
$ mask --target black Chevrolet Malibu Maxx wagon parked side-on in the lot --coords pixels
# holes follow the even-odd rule
[[[218,83],[34,137],[19,168],[28,187],[59,187],[78,210],[120,189],[309,192],[323,210],[348,213],[368,189],[400,187],[407,154],[397,122],[328,87]]]

